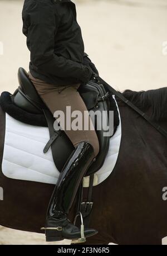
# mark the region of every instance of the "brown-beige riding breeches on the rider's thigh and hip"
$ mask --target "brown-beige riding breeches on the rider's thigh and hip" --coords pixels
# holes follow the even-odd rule
[[[45,102],[46,106],[50,109],[52,114],[55,111],[63,111],[66,116],[66,107],[71,107],[72,111],[81,111],[82,118],[82,130],[67,130],[66,122],[65,129],[66,135],[72,141],[74,146],[77,146],[82,141],[89,142],[94,148],[94,155],[99,153],[99,140],[96,135],[96,131],[94,129],[84,130],[84,111],[87,111],[84,101],[82,100],[80,93],[78,93],[77,89],[80,87],[80,84],[76,84],[73,86],[56,86],[54,84],[48,84],[40,79],[34,78],[30,72],[28,75],[34,84],[38,94],[42,98],[43,102]],[[88,111],[87,111],[87,116]],[[72,118],[71,118],[72,121]],[[89,122],[92,124],[90,117]],[[71,124],[70,124],[71,125]]]

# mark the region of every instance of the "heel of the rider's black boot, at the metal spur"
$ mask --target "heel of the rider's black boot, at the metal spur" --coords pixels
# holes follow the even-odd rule
[[[44,227],[47,242],[62,241],[62,227]]]

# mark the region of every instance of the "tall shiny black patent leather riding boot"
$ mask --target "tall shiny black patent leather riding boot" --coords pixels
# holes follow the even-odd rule
[[[94,158],[94,149],[87,142],[80,143],[63,167],[51,197],[46,219],[46,241],[80,239],[81,230],[73,225],[67,215],[87,168]],[[94,229],[85,229],[85,238],[97,234]]]

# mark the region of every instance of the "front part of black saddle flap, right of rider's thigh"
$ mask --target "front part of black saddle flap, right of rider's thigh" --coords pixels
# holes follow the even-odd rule
[[[97,138],[99,139],[100,150],[96,157],[96,161],[92,163],[87,170],[86,176],[90,176],[90,174],[97,172],[97,170],[102,167],[109,150],[110,136],[105,136],[107,126],[109,126],[109,98],[105,98],[106,91],[102,84],[97,84],[92,81],[84,86],[80,86],[78,91],[80,92],[80,95],[85,102],[87,110],[92,110],[94,112],[98,110],[101,114],[101,117],[105,118],[105,120],[102,120],[95,115],[96,118],[94,125]],[[101,127],[101,129],[97,129],[98,127]]]

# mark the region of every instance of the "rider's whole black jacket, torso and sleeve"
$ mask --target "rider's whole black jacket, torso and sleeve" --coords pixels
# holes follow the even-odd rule
[[[84,42],[74,3],[25,0],[22,19],[34,77],[56,85],[89,81],[92,69],[84,65]]]

